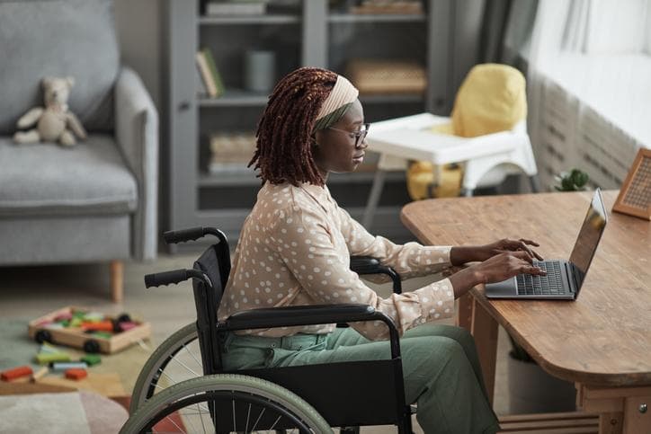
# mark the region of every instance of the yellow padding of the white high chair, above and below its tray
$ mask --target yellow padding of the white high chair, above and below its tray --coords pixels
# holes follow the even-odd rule
[[[484,64],[474,66],[454,102],[450,123],[426,130],[438,134],[477,137],[511,129],[527,116],[526,83],[512,66]],[[459,196],[463,172],[459,165],[440,168],[441,184],[434,186],[434,166],[418,161],[406,173],[407,191],[414,200]]]

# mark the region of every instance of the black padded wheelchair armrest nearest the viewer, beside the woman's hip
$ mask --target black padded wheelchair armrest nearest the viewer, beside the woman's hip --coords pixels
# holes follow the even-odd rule
[[[357,321],[381,321],[388,326],[391,341],[391,357],[400,357],[399,334],[396,324],[386,314],[368,305],[312,305],[252,309],[236,312],[218,324],[222,332],[247,329],[266,329],[327,323],[352,323]]]

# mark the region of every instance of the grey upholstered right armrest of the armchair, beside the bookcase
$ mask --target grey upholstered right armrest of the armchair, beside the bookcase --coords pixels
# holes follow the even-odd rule
[[[156,258],[158,208],[158,112],[136,73],[123,67],[115,84],[115,137],[138,182],[132,252]]]

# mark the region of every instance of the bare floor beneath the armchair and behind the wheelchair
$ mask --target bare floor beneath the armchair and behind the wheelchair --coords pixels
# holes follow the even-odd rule
[[[33,319],[57,308],[76,305],[88,306],[106,314],[128,312],[152,324],[152,347],[167,336],[194,320],[194,305],[190,283],[170,287],[146,289],[143,276],[147,273],[192,267],[195,254],[174,256],[162,254],[149,263],[125,263],[124,301],[111,303],[109,290],[109,265],[77,265],[48,267],[0,268],[0,317],[7,319]],[[412,279],[405,288],[420,288],[432,279]],[[387,285],[376,286],[379,294],[387,297]],[[495,381],[495,412],[508,412],[508,385],[506,357],[508,339],[500,330],[497,374]],[[372,429],[366,432],[395,432],[391,429]],[[416,430],[416,432],[422,432]]]

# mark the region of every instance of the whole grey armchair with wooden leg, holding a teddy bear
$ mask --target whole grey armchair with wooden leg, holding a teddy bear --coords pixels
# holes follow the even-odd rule
[[[0,2],[0,265],[111,264],[156,257],[158,115],[120,66],[112,0]],[[76,79],[74,147],[16,145],[16,120],[42,106],[43,76]]]

